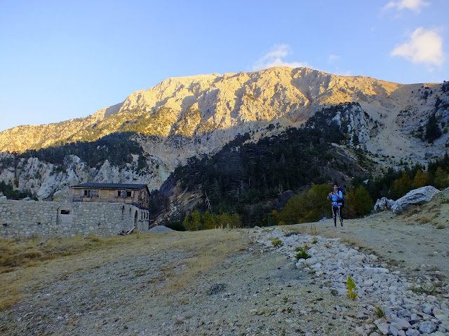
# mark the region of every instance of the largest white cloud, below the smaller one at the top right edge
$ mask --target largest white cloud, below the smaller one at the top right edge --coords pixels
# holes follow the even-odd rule
[[[443,64],[443,38],[434,30],[422,27],[413,31],[410,41],[398,45],[391,56],[400,56],[413,63]]]

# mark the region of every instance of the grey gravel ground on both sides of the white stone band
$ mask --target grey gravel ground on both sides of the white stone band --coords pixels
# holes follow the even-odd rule
[[[403,276],[445,282],[449,229],[404,221],[384,213],[346,221],[344,228],[333,228],[330,220],[284,228],[342,237],[374,251]],[[293,260],[251,241],[248,230],[234,232],[244,247],[177,290],[167,283],[182,281],[194,251],[176,244],[34,267],[40,275],[25,283],[22,300],[0,312],[1,335],[358,335],[356,327],[369,323],[357,317],[355,302],[316,283]],[[141,236],[157,236],[168,246],[189,239],[177,232]],[[22,272],[2,274],[1,281],[18,281]]]

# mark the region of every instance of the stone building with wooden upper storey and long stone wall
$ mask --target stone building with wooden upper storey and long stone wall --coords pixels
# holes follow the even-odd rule
[[[0,200],[0,236],[107,236],[149,229],[146,184],[83,183],[72,186],[72,200]]]

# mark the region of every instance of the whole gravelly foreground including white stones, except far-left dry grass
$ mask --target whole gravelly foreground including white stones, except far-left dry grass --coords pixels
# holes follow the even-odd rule
[[[417,220],[432,214],[422,209],[350,220],[344,228],[327,220],[138,235],[0,274],[4,288],[22,283],[20,300],[0,312],[0,332],[448,335],[444,207],[429,222]],[[283,245],[273,246],[274,238]],[[297,262],[295,248],[304,245],[312,258]],[[347,297],[348,274],[356,300]]]

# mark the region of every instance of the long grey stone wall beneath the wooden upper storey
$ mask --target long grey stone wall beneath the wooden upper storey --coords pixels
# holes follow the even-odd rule
[[[0,200],[0,237],[117,235],[148,230],[149,212],[130,204]]]

